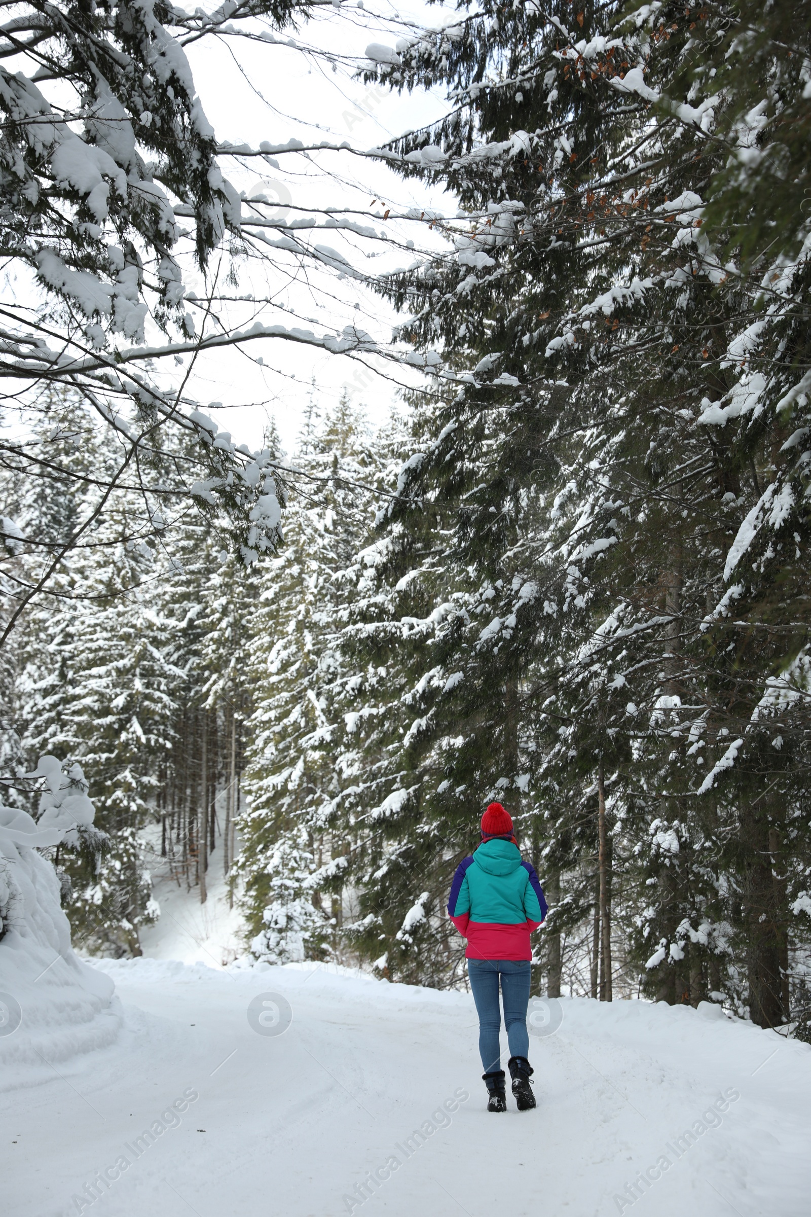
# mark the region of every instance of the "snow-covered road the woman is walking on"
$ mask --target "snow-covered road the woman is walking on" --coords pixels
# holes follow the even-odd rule
[[[809,1212],[811,1048],[751,1026],[564,1000],[530,1045],[539,1109],[496,1117],[467,996],[303,966],[103,966],[118,1041],[0,1094],[7,1217]],[[248,1019],[269,992],[292,1010],[282,1034]],[[100,1172],[100,1199],[74,1199]]]

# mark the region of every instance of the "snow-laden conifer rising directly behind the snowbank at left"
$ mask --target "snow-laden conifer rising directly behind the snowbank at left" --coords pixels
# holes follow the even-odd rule
[[[94,449],[103,441],[85,431],[80,442],[83,459],[97,467]],[[61,443],[56,434],[44,452],[56,456]],[[63,527],[80,510],[77,489],[80,495],[80,483],[56,481],[30,509],[22,503],[26,527],[32,511],[39,535]],[[108,849],[103,859],[79,851],[57,860],[72,885],[74,941],[113,954],[139,953],[137,929],[153,915],[139,832],[151,820],[158,762],[171,747],[180,675],[168,656],[168,623],[150,604],[159,557],[133,537],[137,515],[133,504],[116,504],[100,544],[77,550],[52,596],[32,606],[16,685],[24,753],[79,762],[90,775]]]

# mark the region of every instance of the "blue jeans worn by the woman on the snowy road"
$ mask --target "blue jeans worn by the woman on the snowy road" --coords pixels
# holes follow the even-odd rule
[[[485,1073],[501,1069],[501,1010],[499,1009],[499,977],[505,1003],[505,1025],[511,1056],[529,1055],[526,1006],[529,1004],[529,959],[468,959],[473,1000],[479,1015],[479,1053]]]

